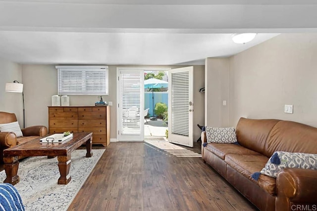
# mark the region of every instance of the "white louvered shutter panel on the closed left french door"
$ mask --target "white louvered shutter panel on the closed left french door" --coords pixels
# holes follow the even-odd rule
[[[121,73],[121,135],[141,134],[141,75]]]

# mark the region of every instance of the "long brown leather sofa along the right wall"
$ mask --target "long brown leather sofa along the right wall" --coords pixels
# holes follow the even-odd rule
[[[202,132],[202,156],[241,194],[262,211],[295,211],[317,208],[317,170],[286,168],[276,179],[261,174],[275,151],[317,154],[317,128],[281,120],[240,118],[238,143],[209,143]]]

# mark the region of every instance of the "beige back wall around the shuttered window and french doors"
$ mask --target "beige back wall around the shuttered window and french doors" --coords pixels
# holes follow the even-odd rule
[[[116,68],[117,67],[171,67],[180,66],[129,66],[129,65],[108,65],[109,68],[109,95],[103,96],[104,101],[112,101],[110,107],[110,138],[116,138]],[[204,97],[197,90],[204,86],[204,66],[194,66],[194,101],[195,112],[194,118],[194,140],[200,136],[200,129],[197,124],[204,123]],[[48,127],[48,106],[52,105],[52,95],[57,94],[57,70],[55,65],[23,65],[22,78],[25,86],[25,103],[26,103],[26,126],[44,125]],[[198,92],[196,94],[196,92]],[[98,96],[90,95],[71,95],[69,97],[70,105],[94,106],[99,100]]]

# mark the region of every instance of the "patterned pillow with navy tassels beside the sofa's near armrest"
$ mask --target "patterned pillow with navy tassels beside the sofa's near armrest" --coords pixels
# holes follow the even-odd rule
[[[276,177],[277,173],[284,168],[317,170],[317,154],[274,152],[261,173]]]

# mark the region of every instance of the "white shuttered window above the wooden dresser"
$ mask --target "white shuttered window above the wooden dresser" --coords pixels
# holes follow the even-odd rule
[[[56,66],[60,95],[108,95],[108,66]]]

